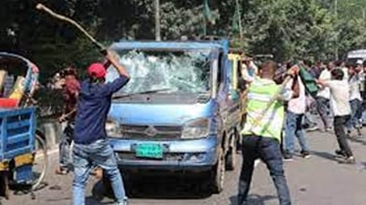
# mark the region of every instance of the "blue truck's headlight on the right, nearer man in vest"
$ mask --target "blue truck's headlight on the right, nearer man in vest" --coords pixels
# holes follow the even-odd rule
[[[208,134],[210,134],[210,119],[198,118],[185,123],[182,139],[205,138]]]

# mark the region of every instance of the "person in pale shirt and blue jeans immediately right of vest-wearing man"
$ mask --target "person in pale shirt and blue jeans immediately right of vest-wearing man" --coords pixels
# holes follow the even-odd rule
[[[291,161],[294,154],[294,137],[296,136],[299,141],[301,151],[300,154],[303,158],[309,158],[309,146],[306,140],[305,133],[302,129],[302,118],[306,111],[306,96],[305,86],[298,76],[299,70],[296,70],[296,76],[293,80],[286,85],[288,89],[291,89],[292,85],[299,86],[299,96],[292,98],[287,103],[286,110],[286,124],[285,124],[285,142],[284,142],[284,160]],[[298,83],[297,83],[297,82]]]

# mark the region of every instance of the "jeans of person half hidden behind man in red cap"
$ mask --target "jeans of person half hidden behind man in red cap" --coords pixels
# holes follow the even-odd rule
[[[60,167],[66,170],[70,161],[70,146],[73,140],[74,126],[74,122],[67,122],[59,145]]]

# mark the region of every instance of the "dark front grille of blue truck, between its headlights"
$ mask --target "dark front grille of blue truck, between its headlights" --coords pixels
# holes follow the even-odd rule
[[[137,140],[180,139],[182,126],[121,125],[124,138]]]

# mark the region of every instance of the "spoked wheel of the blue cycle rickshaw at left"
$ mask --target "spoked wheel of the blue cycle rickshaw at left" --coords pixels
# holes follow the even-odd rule
[[[45,140],[37,133],[35,134],[35,150],[36,150],[35,160],[32,167],[33,190],[37,190],[38,188],[41,187],[42,182],[46,176],[48,166],[47,145]]]

